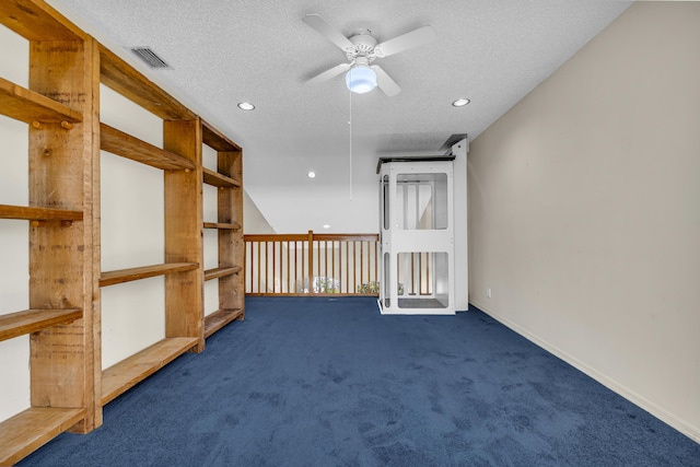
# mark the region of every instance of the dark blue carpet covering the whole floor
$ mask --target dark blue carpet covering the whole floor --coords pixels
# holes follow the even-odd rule
[[[247,300],[26,466],[700,466],[700,445],[479,311]]]

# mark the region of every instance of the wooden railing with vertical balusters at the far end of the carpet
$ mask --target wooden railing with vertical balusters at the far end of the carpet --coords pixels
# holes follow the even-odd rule
[[[378,294],[378,234],[244,238],[248,295]]]

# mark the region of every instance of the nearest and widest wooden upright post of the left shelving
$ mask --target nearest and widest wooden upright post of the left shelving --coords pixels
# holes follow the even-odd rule
[[[84,408],[71,430],[102,424],[97,278],[100,67],[93,39],[30,42],[30,89],[82,112],[70,129],[30,127],[30,205],[83,212],[82,221],[30,229],[30,307],[81,308],[70,325],[34,332],[30,340],[32,407]],[[37,128],[38,127],[38,128]],[[95,252],[95,247],[97,252]],[[97,256],[95,256],[97,255]],[[94,301],[94,302],[93,302]]]

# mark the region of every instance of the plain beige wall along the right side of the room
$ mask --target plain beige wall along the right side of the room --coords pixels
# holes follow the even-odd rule
[[[470,301],[698,441],[699,45],[633,4],[468,161]]]

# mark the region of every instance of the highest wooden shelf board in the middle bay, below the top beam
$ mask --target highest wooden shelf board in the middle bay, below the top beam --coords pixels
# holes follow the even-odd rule
[[[195,163],[105,124],[100,124],[100,149],[165,171],[195,170]]]

